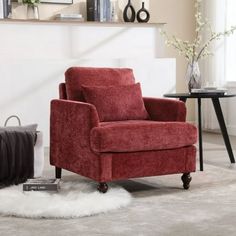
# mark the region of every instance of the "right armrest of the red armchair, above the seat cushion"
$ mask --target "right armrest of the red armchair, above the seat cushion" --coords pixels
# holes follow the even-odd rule
[[[186,106],[184,102],[166,98],[143,98],[151,120],[185,121]]]

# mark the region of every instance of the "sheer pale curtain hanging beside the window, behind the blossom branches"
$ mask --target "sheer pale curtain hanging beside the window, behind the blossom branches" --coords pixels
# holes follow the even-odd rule
[[[216,32],[224,31],[227,20],[227,0],[204,0],[202,6],[203,15],[211,23],[212,30]],[[209,32],[205,32],[205,38],[208,34]],[[210,56],[200,63],[203,84],[225,87],[226,38],[214,41],[211,45],[211,51],[214,56]],[[224,112],[226,109],[224,101],[221,102],[221,105]],[[219,129],[212,102],[208,99],[203,102],[203,128]]]

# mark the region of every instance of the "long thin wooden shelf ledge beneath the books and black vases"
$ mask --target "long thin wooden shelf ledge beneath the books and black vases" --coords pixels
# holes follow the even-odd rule
[[[23,24],[71,24],[77,26],[98,26],[98,27],[161,27],[164,22],[138,23],[138,22],[89,22],[74,20],[25,20],[25,19],[0,19],[0,23],[23,23]]]

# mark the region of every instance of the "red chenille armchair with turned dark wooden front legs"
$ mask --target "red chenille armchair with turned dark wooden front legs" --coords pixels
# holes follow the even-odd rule
[[[196,167],[197,130],[183,102],[142,98],[132,69],[72,67],[51,101],[50,163],[98,182],[182,173]]]

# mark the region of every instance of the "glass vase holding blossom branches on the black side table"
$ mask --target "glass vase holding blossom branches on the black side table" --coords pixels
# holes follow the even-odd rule
[[[201,73],[197,61],[188,63],[186,80],[188,82],[188,90],[190,93],[192,89],[201,88]]]

